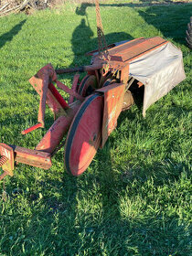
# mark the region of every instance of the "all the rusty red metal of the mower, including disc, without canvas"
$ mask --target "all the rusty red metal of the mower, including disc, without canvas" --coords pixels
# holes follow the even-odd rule
[[[109,48],[109,59],[102,59],[99,54],[93,55],[92,65],[89,66],[54,70],[51,64],[48,64],[40,69],[29,80],[40,95],[38,123],[22,133],[26,134],[44,127],[46,103],[59,118],[52,124],[35,150],[0,144],[0,165],[5,171],[0,180],[7,174],[13,176],[15,161],[48,169],[51,166],[52,154],[57,152],[57,147],[68,130],[65,162],[70,173],[80,175],[90,165],[98,147],[103,147],[116,127],[120,113],[133,105],[132,93],[127,91],[128,86],[131,86],[128,82],[129,63],[166,43],[167,41],[161,37],[141,37]],[[79,83],[80,75],[76,74],[72,89],[69,89],[58,80],[57,74],[73,71],[86,71],[88,75]],[[69,93],[69,104],[62,98],[54,82],[59,89]],[[98,94],[87,97],[90,86],[93,91],[95,88],[100,89],[96,90]],[[141,87],[143,84],[138,81],[138,86]],[[75,99],[79,101],[74,101]]]

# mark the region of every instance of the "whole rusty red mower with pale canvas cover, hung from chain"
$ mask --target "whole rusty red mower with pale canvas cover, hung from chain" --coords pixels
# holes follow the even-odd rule
[[[128,110],[142,95],[143,114],[155,101],[185,79],[181,51],[161,37],[136,38],[107,46],[96,0],[99,49],[88,53],[91,65],[75,69],[54,69],[51,64],[40,69],[29,82],[40,96],[37,124],[23,134],[44,127],[46,104],[55,122],[35,149],[0,144],[0,166],[13,176],[15,165],[23,163],[48,169],[51,157],[65,144],[64,163],[73,176],[80,176],[103,147],[116,127],[122,111]],[[62,84],[62,73],[75,74],[71,89]],[[69,93],[65,101],[57,87]],[[67,137],[61,143],[65,133]]]

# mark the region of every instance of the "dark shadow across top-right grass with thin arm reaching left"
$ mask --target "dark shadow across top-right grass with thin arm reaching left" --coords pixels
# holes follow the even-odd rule
[[[144,17],[144,20],[147,24],[157,28],[164,37],[173,38],[176,42],[180,44],[186,44],[186,29],[188,19],[190,17],[190,3],[184,2],[173,2],[173,1],[164,1],[164,3],[157,3],[154,5],[149,3],[149,1],[142,1],[142,4],[100,4],[103,7],[141,7],[147,6],[146,10],[138,10],[140,16]],[[183,11],[184,16],[182,20],[180,19],[180,12],[182,12],[182,7],[188,5],[188,14],[186,9]],[[93,4],[82,3],[80,7],[76,8],[76,14],[80,16],[87,17],[87,8],[95,7]],[[135,9],[137,11],[137,9]]]

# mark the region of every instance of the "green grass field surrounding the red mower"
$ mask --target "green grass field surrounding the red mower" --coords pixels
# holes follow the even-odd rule
[[[1,256],[191,255],[191,8],[101,5],[108,43],[165,37],[183,51],[187,79],[146,118],[135,105],[123,112],[82,176],[66,173],[63,149],[48,171],[18,165],[0,183]],[[27,80],[49,62],[90,63],[84,53],[97,47],[95,9],[67,3],[1,17],[0,27],[0,142],[34,148],[47,130],[20,133],[37,123],[39,99]],[[72,77],[60,79],[70,85]],[[48,129],[49,111],[46,122]]]

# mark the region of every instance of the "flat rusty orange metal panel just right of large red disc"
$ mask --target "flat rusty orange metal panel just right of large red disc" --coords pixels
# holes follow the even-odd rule
[[[97,92],[104,94],[101,147],[104,146],[110,133],[116,127],[117,119],[122,112],[124,89],[125,84],[114,83],[97,90]]]

